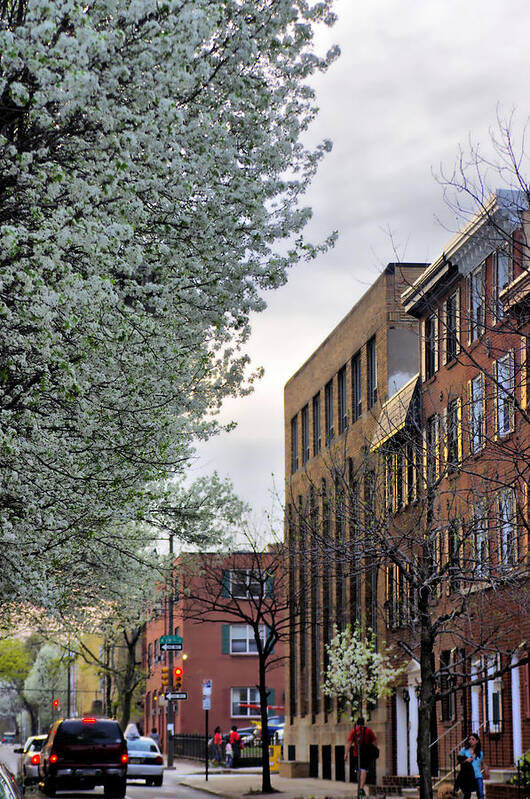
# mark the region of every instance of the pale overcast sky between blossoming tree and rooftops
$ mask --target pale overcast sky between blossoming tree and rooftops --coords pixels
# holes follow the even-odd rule
[[[315,80],[310,141],[333,141],[308,195],[312,240],[335,248],[266,295],[248,351],[265,377],[226,404],[238,427],[201,447],[192,476],[217,470],[259,520],[284,485],[283,388],[389,261],[432,261],[455,221],[433,172],[469,136],[486,144],[497,107],[529,114],[528,0],[337,0],[319,35],[342,55]],[[439,220],[447,228],[440,223]],[[391,231],[391,236],[389,236]],[[274,476],[274,480],[273,480]]]

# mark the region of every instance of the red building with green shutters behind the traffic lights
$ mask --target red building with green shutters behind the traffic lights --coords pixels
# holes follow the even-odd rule
[[[194,560],[190,563],[190,557]],[[260,562],[266,562],[266,553],[257,553]],[[199,560],[214,564],[206,573]],[[155,727],[160,735],[164,750],[167,751],[168,708],[164,699],[167,688],[162,686],[162,669],[168,667],[168,654],[160,648],[160,638],[177,635],[183,639],[181,652],[173,653],[173,667],[183,668],[182,690],[188,694],[187,700],[175,703],[175,733],[203,733],[204,711],[202,709],[203,680],[212,680],[211,710],[209,729],[219,725],[228,732],[233,724],[249,727],[259,721],[258,656],[253,631],[243,619],[219,612],[208,614],[205,621],[197,619],[196,606],[192,607],[188,587],[193,584],[193,595],[209,595],[220,598],[228,596],[227,586],[237,594],[241,605],[252,604],[250,599],[259,596],[258,581],[251,579],[252,565],[245,553],[218,555],[211,553],[194,556],[180,556],[176,561],[175,601],[173,603],[173,625],[169,625],[169,607],[166,596],[161,595],[158,613],[146,625],[143,664],[147,673],[144,703],[144,729]],[[249,577],[250,574],[250,577]],[[215,581],[216,585],[213,585]],[[272,583],[272,579],[271,579]],[[241,585],[239,594],[236,586]],[[185,590],[183,587],[186,586]],[[269,588],[267,588],[269,590]],[[271,584],[270,590],[273,590]],[[250,591],[250,594],[248,592]],[[249,596],[249,602],[245,599]],[[259,604],[259,603],[258,603]],[[260,605],[264,612],[261,634],[267,635],[267,615],[265,603]],[[216,616],[214,619],[213,617]],[[279,642],[274,651],[274,668],[267,672],[269,689],[269,715],[283,715],[284,706],[284,664],[283,644]]]

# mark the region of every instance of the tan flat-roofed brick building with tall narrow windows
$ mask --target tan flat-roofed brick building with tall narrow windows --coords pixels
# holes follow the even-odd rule
[[[417,322],[404,313],[401,293],[426,264],[389,264],[285,387],[287,533],[292,595],[303,595],[302,618],[289,645],[284,756],[310,763],[312,775],[344,779],[349,723],[322,693],[325,646],[333,625],[368,619],[376,630],[378,569],[350,578],[339,561],[321,558],[322,538],[343,535],[335,502],[335,478],[371,491],[369,445],[381,404],[418,371]],[[312,534],[307,519],[319,521]],[[316,530],[318,527],[318,533]],[[293,542],[299,542],[298,546]],[[386,709],[373,714],[380,732]],[[384,769],[385,752],[381,754]]]

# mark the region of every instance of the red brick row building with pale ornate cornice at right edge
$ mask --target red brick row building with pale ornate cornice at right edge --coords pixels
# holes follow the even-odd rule
[[[421,331],[418,504],[425,510],[432,496],[426,533],[437,562],[432,599],[439,616],[455,616],[442,626],[434,651],[437,690],[444,694],[433,731],[441,775],[472,730],[500,778],[530,748],[530,292],[521,199],[497,192],[403,295]],[[395,435],[397,446],[386,447],[387,502],[403,530],[421,522],[398,489],[406,458],[398,460],[402,433]],[[394,569],[387,621],[398,638],[410,627],[410,614],[399,614],[402,604]],[[417,680],[411,659],[406,689],[396,692],[392,708],[397,773],[414,773],[417,765]]]

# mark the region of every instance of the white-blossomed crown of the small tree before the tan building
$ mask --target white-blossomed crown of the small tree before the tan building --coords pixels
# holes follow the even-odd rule
[[[324,693],[348,702],[352,719],[379,697],[388,696],[399,676],[388,652],[377,649],[372,631],[363,634],[358,625],[336,632],[326,649]]]

